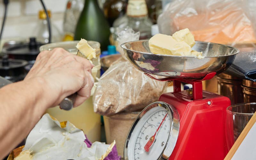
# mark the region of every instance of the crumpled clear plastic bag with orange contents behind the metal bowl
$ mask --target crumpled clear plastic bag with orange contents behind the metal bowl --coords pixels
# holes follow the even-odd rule
[[[255,11],[250,12],[249,1],[252,0],[174,0],[157,23],[160,33],[168,35],[188,28],[197,41],[229,45],[255,43],[252,24]]]

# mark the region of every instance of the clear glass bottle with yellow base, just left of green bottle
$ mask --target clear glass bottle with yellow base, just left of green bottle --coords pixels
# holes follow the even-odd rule
[[[63,20],[63,31],[64,31],[63,41],[74,40],[76,24],[83,8],[84,8],[83,0],[68,1],[67,7],[64,13],[64,20]]]

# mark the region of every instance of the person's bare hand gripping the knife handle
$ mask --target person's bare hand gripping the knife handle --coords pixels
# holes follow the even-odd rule
[[[24,81],[37,80],[42,85],[42,98],[51,103],[50,107],[77,92],[76,107],[91,95],[94,84],[92,67],[89,60],[55,48],[39,53]]]

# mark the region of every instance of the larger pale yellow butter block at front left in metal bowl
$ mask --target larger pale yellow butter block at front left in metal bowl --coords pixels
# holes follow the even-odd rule
[[[148,41],[150,52],[174,56],[191,55],[191,47],[184,41],[176,41],[172,36],[156,34]]]

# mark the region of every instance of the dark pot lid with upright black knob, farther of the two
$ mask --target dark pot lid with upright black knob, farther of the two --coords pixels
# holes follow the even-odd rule
[[[43,44],[36,42],[36,38],[29,38],[29,43],[6,46],[2,52],[8,55],[37,55],[41,45]]]

